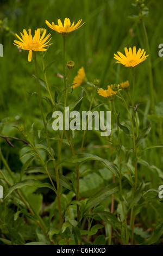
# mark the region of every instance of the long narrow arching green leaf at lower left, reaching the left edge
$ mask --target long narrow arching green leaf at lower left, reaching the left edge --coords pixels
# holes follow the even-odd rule
[[[54,188],[48,184],[48,183],[42,183],[39,180],[23,180],[23,181],[19,181],[17,183],[15,183],[13,186],[11,186],[9,188],[9,190],[7,191],[7,193],[5,194],[4,200],[14,191],[17,190],[19,188],[22,188],[24,186],[34,186],[34,187],[48,187],[51,190],[55,191]]]

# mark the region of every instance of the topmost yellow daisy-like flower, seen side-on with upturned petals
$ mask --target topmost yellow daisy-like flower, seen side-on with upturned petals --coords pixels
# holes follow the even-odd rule
[[[45,21],[45,22],[49,28],[53,29],[54,31],[57,31],[58,33],[60,33],[62,35],[66,35],[72,31],[76,30],[77,28],[80,28],[84,24],[83,23],[82,25],[80,25],[82,20],[79,20],[76,25],[74,25],[74,21],[71,25],[70,19],[67,19],[67,18],[65,18],[64,26],[62,25],[61,20],[58,20],[58,25],[55,25],[54,22],[52,22],[52,25],[48,21]]]

